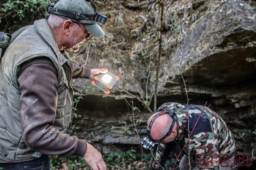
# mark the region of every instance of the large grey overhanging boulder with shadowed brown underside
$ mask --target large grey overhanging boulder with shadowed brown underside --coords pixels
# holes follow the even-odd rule
[[[166,76],[178,81],[181,67],[188,84],[235,86],[251,81],[255,76],[255,19],[252,7],[228,1],[184,37]]]

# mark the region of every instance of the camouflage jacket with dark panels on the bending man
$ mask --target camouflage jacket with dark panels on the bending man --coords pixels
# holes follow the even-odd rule
[[[175,110],[177,115],[177,141],[183,146],[184,154],[188,154],[188,148],[190,149],[190,156],[196,154],[234,154],[236,151],[236,142],[230,132],[230,129],[224,122],[224,120],[209,107],[202,105],[181,105],[180,103],[169,102],[161,105],[161,108],[168,107]],[[158,109],[158,110],[159,110]],[[189,113],[189,122],[188,114]],[[188,138],[190,135],[190,139]],[[188,141],[189,139],[189,141]],[[188,146],[190,143],[190,146]],[[184,144],[186,146],[184,147]],[[158,150],[156,152],[156,160],[153,162],[154,169],[158,169],[160,166],[158,162],[164,157],[169,155],[169,152],[164,152],[166,144],[158,144]],[[168,154],[168,155],[166,155]],[[211,161],[206,160],[208,162]],[[219,162],[219,158],[213,157],[213,162]],[[161,161],[161,165],[163,165]],[[211,164],[211,163],[210,163]],[[202,169],[220,169],[220,167],[202,167]]]

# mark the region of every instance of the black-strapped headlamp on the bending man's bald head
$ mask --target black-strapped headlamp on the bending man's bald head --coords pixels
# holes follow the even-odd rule
[[[142,146],[146,149],[152,150],[155,146],[155,143],[161,143],[163,140],[165,140],[166,137],[169,137],[169,135],[171,135],[171,132],[173,131],[173,127],[176,122],[175,112],[169,108],[163,108],[163,109],[160,109],[159,111],[161,111],[161,112],[159,112],[152,118],[152,120],[147,128],[147,137],[144,137],[144,139],[140,142],[142,144]],[[154,141],[154,139],[152,139],[152,137],[150,135],[152,125],[153,125],[153,122],[156,120],[156,118],[158,118],[159,116],[161,116],[163,114],[169,114],[169,116],[171,116],[171,118],[173,118],[173,123],[171,124],[171,127],[170,127],[169,131],[167,131],[166,135],[164,135],[159,141]]]

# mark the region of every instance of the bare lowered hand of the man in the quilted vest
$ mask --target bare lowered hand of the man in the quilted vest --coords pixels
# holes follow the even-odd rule
[[[87,143],[87,150],[83,159],[93,168],[93,170],[106,170],[106,163],[104,163],[102,155],[89,143]]]

